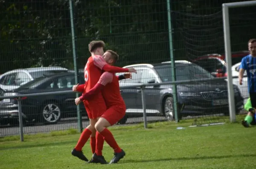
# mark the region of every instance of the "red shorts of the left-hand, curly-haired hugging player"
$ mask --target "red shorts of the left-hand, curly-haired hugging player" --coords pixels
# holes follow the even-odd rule
[[[99,103],[89,103],[88,101],[84,101],[84,107],[86,109],[88,118],[96,119],[99,118],[107,109],[105,102],[103,104]]]

